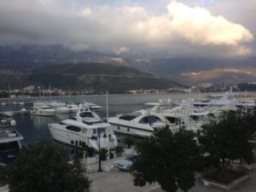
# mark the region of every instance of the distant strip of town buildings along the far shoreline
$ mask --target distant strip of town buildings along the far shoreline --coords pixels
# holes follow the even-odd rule
[[[226,90],[232,91],[255,91],[256,82],[244,83],[244,84],[198,84],[190,86],[186,89],[177,87],[165,90],[155,89],[139,89],[139,90],[127,90],[122,94],[167,94],[173,92],[224,92]],[[81,96],[81,95],[104,95],[105,91],[84,89],[84,90],[62,90],[62,89],[45,89],[44,86],[29,85],[22,89],[15,90],[0,90],[0,98],[15,98],[15,97],[31,97],[31,96]]]

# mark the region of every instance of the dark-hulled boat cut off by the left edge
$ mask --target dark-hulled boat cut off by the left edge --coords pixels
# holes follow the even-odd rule
[[[0,163],[12,162],[20,151],[23,137],[16,131],[15,125],[14,119],[0,120]]]

